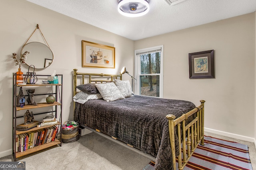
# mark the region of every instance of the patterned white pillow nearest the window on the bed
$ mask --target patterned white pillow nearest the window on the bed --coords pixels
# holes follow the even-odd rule
[[[130,98],[133,94],[131,84],[129,80],[114,79],[117,88],[125,98]]]

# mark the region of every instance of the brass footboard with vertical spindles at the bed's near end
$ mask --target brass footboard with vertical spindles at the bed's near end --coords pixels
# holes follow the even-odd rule
[[[176,154],[175,154],[175,136],[174,131],[177,127],[177,135],[179,141],[179,155],[178,155],[178,169],[182,170],[189,158],[192,156],[194,150],[200,143],[204,145],[204,100],[200,100],[201,105],[176,117],[174,115],[166,115],[169,125],[170,144],[172,150],[172,162],[174,170],[176,170]],[[197,114],[196,118],[186,125],[188,117]],[[183,150],[183,152],[182,152]],[[187,150],[187,151],[186,151]],[[183,156],[182,156],[183,154]]]

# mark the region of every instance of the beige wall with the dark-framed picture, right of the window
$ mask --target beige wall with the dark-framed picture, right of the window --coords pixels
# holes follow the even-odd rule
[[[206,131],[255,137],[255,14],[135,41],[164,45],[164,98],[205,103]],[[188,53],[214,49],[214,79],[189,79]]]

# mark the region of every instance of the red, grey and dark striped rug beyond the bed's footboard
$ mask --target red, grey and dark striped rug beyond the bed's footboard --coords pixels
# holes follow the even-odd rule
[[[177,161],[177,160],[176,160]],[[178,164],[176,163],[178,169]],[[247,145],[205,136],[184,170],[252,170]],[[154,170],[151,161],[142,170]]]

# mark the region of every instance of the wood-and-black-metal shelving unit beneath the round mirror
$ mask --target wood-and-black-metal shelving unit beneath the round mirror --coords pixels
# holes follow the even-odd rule
[[[47,76],[50,76],[50,75],[37,75],[38,79],[39,78],[44,78],[44,77],[47,77]],[[55,125],[61,126],[61,124],[62,124],[62,74],[57,74],[56,76],[58,76],[59,83],[61,82],[60,84],[16,84],[16,73],[13,73],[12,155],[13,155],[14,161],[16,161],[16,158],[20,158],[22,156],[37,152],[39,150],[43,150],[43,149],[46,149],[46,148],[49,148],[49,147],[52,147],[52,146],[55,146],[55,145],[60,145],[60,146],[62,145],[61,140],[59,141],[57,139],[57,135],[56,135],[56,139],[54,141],[51,141],[49,143],[44,143],[42,145],[35,146],[33,148],[30,148],[30,149],[22,151],[22,152],[16,152],[16,135],[21,135],[23,133],[28,133],[28,132],[37,131],[37,130],[40,130],[40,129],[45,129],[45,128],[52,127],[52,126],[55,126]],[[37,103],[36,106],[32,106],[32,105],[26,104],[26,102],[25,102],[25,106],[23,106],[23,107],[17,107],[16,106],[17,88],[18,87],[38,88],[40,86],[55,86],[55,91],[54,92],[46,93],[46,94],[53,94],[55,96],[55,102],[54,103],[47,104],[46,102],[44,102],[44,103]],[[44,95],[45,96],[46,94],[37,94],[37,95]],[[58,99],[59,99],[59,101],[58,101]],[[18,131],[18,130],[16,130],[16,119],[23,118],[22,116],[20,116],[20,117],[17,116],[17,111],[28,110],[28,109],[37,109],[37,108],[40,108],[40,107],[52,107],[52,111],[50,111],[50,112],[55,113],[56,120],[58,118],[57,113],[59,113],[60,121],[58,121],[58,123],[55,124],[55,125],[48,125],[48,126],[43,126],[43,127],[34,127],[34,128],[29,129],[27,131]],[[34,113],[34,115],[46,114],[46,113],[49,113],[49,111],[48,112],[43,112],[43,113]],[[58,134],[60,134],[60,139],[61,139],[61,127],[59,127],[58,131],[60,131]]]

